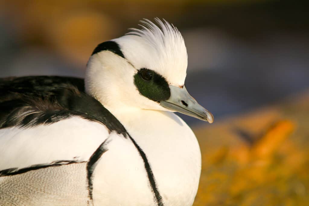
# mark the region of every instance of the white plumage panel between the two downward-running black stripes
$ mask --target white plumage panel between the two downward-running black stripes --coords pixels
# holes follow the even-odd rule
[[[155,206],[143,160],[132,141],[112,134],[94,171],[94,205]]]

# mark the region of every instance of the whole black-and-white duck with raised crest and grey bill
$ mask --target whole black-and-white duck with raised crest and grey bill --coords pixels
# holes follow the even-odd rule
[[[184,82],[184,38],[141,21],[99,44],[85,78],[0,80],[0,205],[192,205],[201,151],[174,112],[212,123]]]

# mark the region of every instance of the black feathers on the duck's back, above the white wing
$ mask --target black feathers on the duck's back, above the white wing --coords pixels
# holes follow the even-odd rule
[[[4,78],[0,79],[0,94],[0,128],[32,127],[81,116],[101,122],[111,131],[126,134],[116,117],[97,99],[85,93],[81,78]]]

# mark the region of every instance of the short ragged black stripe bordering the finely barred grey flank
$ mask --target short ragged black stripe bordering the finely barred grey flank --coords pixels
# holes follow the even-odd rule
[[[106,152],[108,149],[104,148],[104,146],[108,143],[108,139],[106,139],[99,147],[95,150],[95,152],[91,155],[88,163],[87,163],[87,179],[88,179],[88,192],[89,192],[89,198],[92,201],[92,190],[93,190],[93,183],[92,183],[92,175],[93,171],[95,170],[96,162],[99,160],[99,158],[102,156],[104,152]]]

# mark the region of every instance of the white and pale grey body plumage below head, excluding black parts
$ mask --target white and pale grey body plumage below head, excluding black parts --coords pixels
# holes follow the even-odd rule
[[[125,116],[131,118],[122,123],[146,153],[164,204],[192,205],[201,172],[201,154],[191,129],[170,112],[145,110]],[[33,138],[34,133],[36,138]],[[99,159],[95,169],[94,205],[157,205],[153,200],[144,163],[132,142],[116,133],[109,135],[106,127],[99,123],[72,117],[27,130],[2,129],[0,137],[4,136],[6,140],[1,138],[0,141],[0,155],[7,162],[0,165],[0,170],[72,157],[82,163],[2,177],[0,196],[3,195],[3,198],[9,196],[12,201],[21,198],[25,200],[22,204],[42,205],[40,196],[48,194],[46,205],[87,205],[89,197],[84,161],[90,158],[101,142],[109,138],[111,143],[108,144],[108,151]],[[20,145],[13,147],[12,141]],[[28,153],[29,150],[36,153]],[[66,175],[63,175],[64,170]],[[12,179],[18,183],[13,188],[7,184]],[[35,190],[26,191],[23,188],[25,184],[34,186]]]

